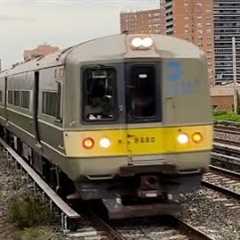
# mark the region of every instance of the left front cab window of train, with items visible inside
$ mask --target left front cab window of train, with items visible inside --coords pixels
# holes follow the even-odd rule
[[[84,120],[115,120],[116,71],[113,68],[87,69],[83,78]]]

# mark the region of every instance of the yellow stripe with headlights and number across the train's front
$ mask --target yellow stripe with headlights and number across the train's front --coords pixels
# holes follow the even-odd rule
[[[152,155],[211,150],[213,127],[164,127],[64,133],[68,157]]]

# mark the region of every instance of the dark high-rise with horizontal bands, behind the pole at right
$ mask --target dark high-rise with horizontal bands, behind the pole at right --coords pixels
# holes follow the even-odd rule
[[[216,83],[233,81],[232,37],[236,38],[237,80],[240,81],[240,1],[214,0]]]

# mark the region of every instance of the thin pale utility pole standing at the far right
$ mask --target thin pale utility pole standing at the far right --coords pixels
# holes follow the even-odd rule
[[[238,113],[238,87],[237,87],[237,57],[236,57],[236,39],[232,37],[233,52],[233,91],[234,91],[234,113]]]

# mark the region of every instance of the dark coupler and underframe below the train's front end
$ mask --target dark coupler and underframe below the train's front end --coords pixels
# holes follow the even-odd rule
[[[175,196],[180,193],[193,192],[200,188],[201,171],[173,174],[167,173],[171,168],[174,168],[173,166],[165,166],[165,173],[157,171],[158,167],[151,166],[150,168],[155,168],[155,171],[147,172],[146,167],[122,168],[121,176],[116,176],[113,179],[90,181],[83,177],[75,185],[84,200],[113,199],[118,196],[161,198],[166,194]]]

